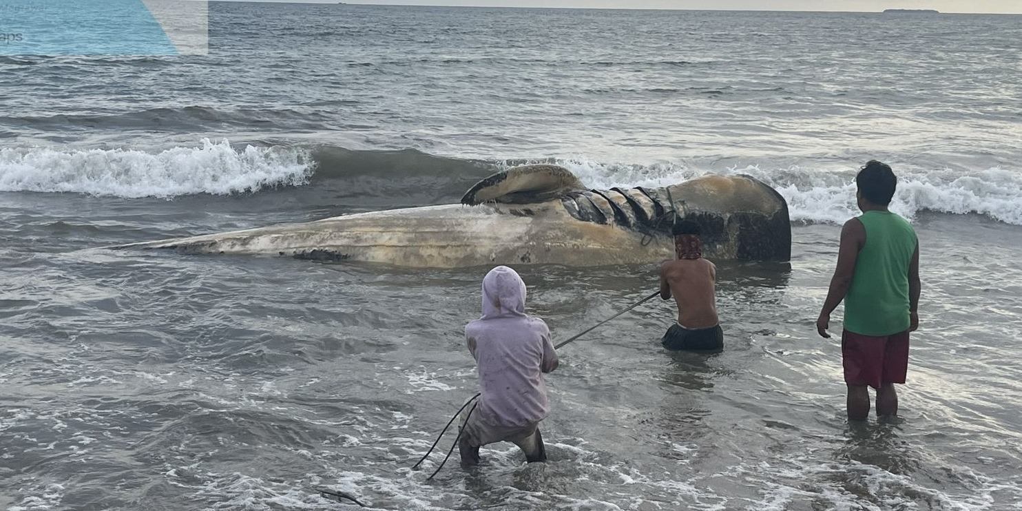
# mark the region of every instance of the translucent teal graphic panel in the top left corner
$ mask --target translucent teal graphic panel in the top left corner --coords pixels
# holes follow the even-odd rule
[[[0,55],[177,55],[142,0],[0,0]]]

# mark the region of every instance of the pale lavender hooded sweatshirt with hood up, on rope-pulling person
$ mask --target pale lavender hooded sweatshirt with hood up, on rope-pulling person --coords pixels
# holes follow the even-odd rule
[[[474,413],[494,426],[524,426],[550,412],[543,373],[557,367],[550,329],[525,314],[525,283],[506,267],[482,279],[482,317],[465,326],[479,371]]]

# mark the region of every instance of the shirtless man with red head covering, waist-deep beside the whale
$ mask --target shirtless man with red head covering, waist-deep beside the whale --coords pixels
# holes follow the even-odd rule
[[[716,317],[716,267],[702,258],[699,224],[682,220],[671,228],[678,259],[660,265],[660,298],[675,297],[678,322],[660,342],[667,350],[724,350]]]

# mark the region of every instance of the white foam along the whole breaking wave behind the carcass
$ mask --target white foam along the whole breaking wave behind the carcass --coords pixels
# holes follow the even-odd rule
[[[399,159],[404,156],[397,156]],[[373,160],[384,172],[397,162],[386,154]],[[457,179],[456,160],[440,166],[414,166],[436,174],[437,183]],[[707,169],[698,162],[601,162],[584,156],[494,162],[497,169],[523,164],[556,164],[574,173],[587,187],[667,186],[709,173],[751,175],[773,186],[788,201],[797,223],[843,223],[858,215],[854,169],[819,168],[812,161],[788,167],[747,165]],[[278,186],[311,183],[320,162],[301,146],[233,147],[227,140],[203,139],[200,147],[175,147],[159,152],[137,149],[4,148],[0,149],[0,191],[75,192],[125,198],[207,193],[251,193]],[[929,211],[953,215],[978,214],[1022,225],[1022,174],[1014,170],[927,169],[895,165],[898,189],[891,211],[909,219]],[[372,169],[375,171],[376,169]],[[331,179],[364,179],[360,175],[328,174]],[[410,182],[417,181],[409,176]]]

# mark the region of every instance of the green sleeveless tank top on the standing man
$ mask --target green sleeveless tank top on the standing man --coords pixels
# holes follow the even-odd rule
[[[862,335],[890,335],[909,329],[909,265],[916,231],[890,212],[870,211],[858,221],[866,243],[844,297],[844,328]]]

